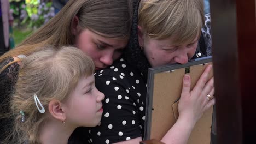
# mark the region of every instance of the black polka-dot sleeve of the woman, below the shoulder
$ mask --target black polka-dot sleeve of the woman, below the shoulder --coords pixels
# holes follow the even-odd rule
[[[96,87],[105,94],[99,126],[90,131],[92,143],[115,143],[141,137],[137,99],[119,75],[96,76]]]

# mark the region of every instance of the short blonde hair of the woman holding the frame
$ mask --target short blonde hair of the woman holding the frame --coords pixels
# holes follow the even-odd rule
[[[138,25],[152,39],[191,43],[205,23],[202,0],[141,0]]]

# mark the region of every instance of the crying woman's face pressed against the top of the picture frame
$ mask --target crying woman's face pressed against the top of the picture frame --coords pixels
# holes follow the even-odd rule
[[[152,67],[180,63],[185,64],[195,54],[198,38],[189,44],[174,45],[172,38],[155,40],[143,37],[144,53]]]

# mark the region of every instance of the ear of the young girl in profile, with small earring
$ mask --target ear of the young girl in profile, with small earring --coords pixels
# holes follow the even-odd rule
[[[62,109],[62,103],[59,100],[51,100],[48,106],[49,112],[51,116],[54,118],[60,120],[60,121],[65,121],[66,119],[66,113]]]

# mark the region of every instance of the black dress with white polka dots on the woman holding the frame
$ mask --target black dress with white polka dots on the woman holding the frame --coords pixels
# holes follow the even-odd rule
[[[95,85],[105,94],[101,123],[88,130],[91,143],[115,143],[143,137],[146,82],[121,58],[95,73]]]

